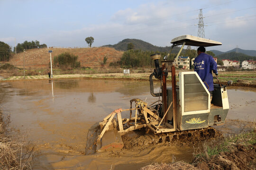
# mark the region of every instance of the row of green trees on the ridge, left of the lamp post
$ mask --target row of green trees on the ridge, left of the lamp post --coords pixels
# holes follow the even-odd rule
[[[16,46],[16,52],[23,52],[24,50],[29,50],[29,49],[37,49],[37,48],[46,48],[47,45],[46,44],[40,44],[39,41],[32,41],[32,42],[23,42],[23,43],[18,43],[18,45]],[[15,47],[13,49],[13,52],[15,52]]]

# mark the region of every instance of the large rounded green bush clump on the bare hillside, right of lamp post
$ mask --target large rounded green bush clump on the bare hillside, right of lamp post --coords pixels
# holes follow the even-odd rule
[[[68,52],[62,53],[54,57],[54,66],[62,69],[80,68],[80,61],[77,61],[78,56]]]

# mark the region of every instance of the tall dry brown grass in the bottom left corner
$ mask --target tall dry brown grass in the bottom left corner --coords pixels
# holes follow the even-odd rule
[[[0,111],[0,170],[32,170],[35,148],[29,143],[18,142],[8,135],[9,119],[3,121]]]

